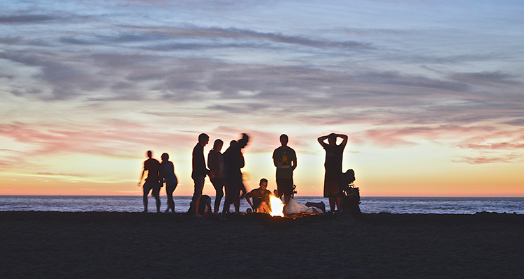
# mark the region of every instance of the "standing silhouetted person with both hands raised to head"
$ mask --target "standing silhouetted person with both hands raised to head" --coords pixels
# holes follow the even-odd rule
[[[337,145],[337,138],[342,138],[342,142]],[[326,139],[328,143],[326,144]],[[329,198],[331,213],[335,213],[335,204],[337,210],[342,211],[342,189],[340,188],[340,179],[342,178],[342,153],[347,144],[347,135],[330,133],[318,138],[319,144],[326,151],[326,161],[324,168],[324,197]]]

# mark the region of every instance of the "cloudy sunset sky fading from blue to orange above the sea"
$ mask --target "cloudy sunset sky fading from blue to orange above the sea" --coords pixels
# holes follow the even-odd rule
[[[335,132],[362,195],[524,196],[521,0],[0,7],[0,195],[141,195],[148,149],[191,195],[200,133],[206,158],[249,134],[270,190],[289,135],[298,195],[322,195]]]

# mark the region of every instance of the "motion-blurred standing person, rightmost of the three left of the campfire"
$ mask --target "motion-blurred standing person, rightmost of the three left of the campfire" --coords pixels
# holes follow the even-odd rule
[[[244,155],[242,149],[247,145],[249,136],[242,134],[242,138],[232,140],[228,149],[224,151],[224,183],[226,184],[226,199],[220,220],[226,220],[226,213],[229,213],[231,204],[235,204],[235,212],[240,211],[240,189],[242,189],[242,172],[244,167]]]

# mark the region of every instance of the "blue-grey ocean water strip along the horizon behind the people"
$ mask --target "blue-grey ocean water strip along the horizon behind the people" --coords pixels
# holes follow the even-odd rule
[[[212,202],[214,202],[214,197]],[[324,197],[295,197],[300,204],[324,202]],[[187,212],[191,196],[175,197],[175,211]],[[222,199],[224,202],[224,199]],[[167,207],[161,196],[161,211]],[[249,204],[241,200],[240,211]],[[220,209],[222,205],[220,206]],[[155,211],[155,201],[149,197],[149,211]],[[63,211],[63,212],[142,212],[141,196],[0,196],[0,211]],[[221,210],[220,210],[221,211]],[[231,205],[231,211],[234,211]],[[362,197],[363,213],[437,213],[474,214],[477,212],[524,214],[524,197]]]

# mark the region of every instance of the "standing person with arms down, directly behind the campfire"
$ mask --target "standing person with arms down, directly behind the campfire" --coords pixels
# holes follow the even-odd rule
[[[277,191],[279,197],[284,195],[284,204],[288,204],[293,195],[293,170],[296,169],[296,153],[287,146],[288,140],[287,135],[280,135],[281,146],[273,151],[273,164],[277,167]]]

